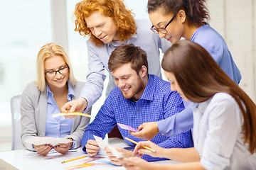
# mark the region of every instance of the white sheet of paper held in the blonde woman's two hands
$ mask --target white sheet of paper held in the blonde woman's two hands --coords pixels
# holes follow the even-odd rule
[[[50,144],[54,147],[56,145],[66,144],[72,141],[65,138],[58,138],[58,137],[30,137],[25,142],[31,143],[33,145]]]

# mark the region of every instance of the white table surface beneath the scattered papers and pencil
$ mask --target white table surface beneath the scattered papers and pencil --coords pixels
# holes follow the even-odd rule
[[[110,145],[117,145],[119,147],[127,146],[124,140],[118,138],[110,138],[108,140]],[[90,159],[90,157],[86,157],[83,159],[78,159],[72,162],[66,162],[62,164],[61,162],[67,161],[69,159],[74,159],[78,157],[85,156],[85,154],[81,147],[70,151],[66,154],[59,154],[59,153],[49,153],[46,157],[36,154],[35,152],[29,152],[26,149],[19,149],[14,151],[8,152],[0,152],[0,169],[11,169],[12,166],[15,166],[17,169],[65,169],[67,166],[73,166],[78,164],[83,164],[86,159]],[[107,170],[107,169],[125,169],[123,166],[114,166],[109,164],[110,159],[107,158],[105,155],[105,151],[101,149],[98,156],[105,157],[103,159],[98,159],[94,162],[89,163],[106,163],[100,165],[89,166],[82,169],[99,169],[99,170]],[[163,161],[163,162],[154,162],[160,164],[176,164],[177,162],[174,161]],[[13,167],[13,169],[15,169]]]

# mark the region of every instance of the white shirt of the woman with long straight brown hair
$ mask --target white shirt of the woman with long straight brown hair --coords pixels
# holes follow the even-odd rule
[[[229,94],[215,94],[203,103],[191,103],[194,145],[205,169],[256,169],[242,134],[242,113]]]

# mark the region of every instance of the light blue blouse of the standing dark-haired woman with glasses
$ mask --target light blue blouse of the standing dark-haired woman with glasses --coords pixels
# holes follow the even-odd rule
[[[228,74],[228,77],[239,84],[241,80],[240,71],[228,50],[225,40],[217,31],[206,24],[193,33],[191,41],[205,48],[220,68]],[[166,136],[173,136],[190,130],[193,128],[193,113],[190,106],[186,107],[181,113],[157,122],[157,125],[159,132]]]

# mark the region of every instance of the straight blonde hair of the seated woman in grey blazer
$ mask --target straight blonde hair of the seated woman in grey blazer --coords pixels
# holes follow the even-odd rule
[[[76,80],[73,74],[73,69],[70,65],[70,60],[68,58],[67,52],[63,47],[60,45],[50,42],[46,45],[43,45],[38,52],[37,60],[36,60],[36,70],[37,70],[37,77],[36,77],[36,86],[40,91],[46,89],[46,74],[45,74],[45,61],[46,59],[53,57],[53,56],[62,56],[63,60],[66,64],[68,64],[69,69],[69,81],[72,86],[76,84]]]

